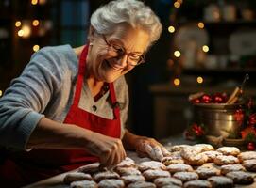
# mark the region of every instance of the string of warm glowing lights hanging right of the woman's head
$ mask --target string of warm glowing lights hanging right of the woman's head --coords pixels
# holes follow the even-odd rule
[[[182,3],[183,3],[182,0],[176,0],[176,1],[174,2],[173,6],[174,6],[174,8],[180,8],[181,5],[182,5]],[[173,16],[171,16],[171,18],[176,18],[176,16],[173,15]],[[199,29],[204,29],[204,23],[203,23],[203,22],[198,22],[198,23],[197,23],[197,27],[198,27]],[[174,33],[176,32],[176,30],[177,30],[177,29],[176,29],[175,25],[169,25],[169,26],[168,26],[168,32],[169,32],[170,34],[174,34]],[[201,47],[201,50],[202,50],[204,53],[208,53],[208,52],[209,52],[209,46],[208,46],[208,45],[203,45],[203,46]],[[175,50],[174,53],[173,53],[173,55],[174,55],[176,58],[180,58],[180,57],[181,57],[181,52],[180,52],[179,50]],[[172,63],[170,64],[169,62],[172,62]],[[168,66],[174,66],[174,60],[169,59],[169,60],[168,60]],[[203,82],[204,82],[203,77],[197,76],[197,77],[196,77],[196,82],[197,82],[197,84],[203,84]],[[174,86],[179,86],[179,85],[181,84],[181,81],[180,81],[179,77],[175,77],[175,78],[173,78],[172,83],[173,83]]]

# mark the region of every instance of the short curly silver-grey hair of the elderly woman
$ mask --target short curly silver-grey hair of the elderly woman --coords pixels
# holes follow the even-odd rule
[[[150,43],[160,38],[162,24],[156,14],[138,0],[114,0],[98,8],[91,17],[91,25],[98,34],[111,34],[117,25],[129,24],[144,29]]]

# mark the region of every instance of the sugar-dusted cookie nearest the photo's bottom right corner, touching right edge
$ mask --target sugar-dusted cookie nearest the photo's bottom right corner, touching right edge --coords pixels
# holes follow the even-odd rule
[[[254,179],[251,174],[243,171],[233,171],[226,174],[227,177],[233,180],[237,184],[251,184]]]

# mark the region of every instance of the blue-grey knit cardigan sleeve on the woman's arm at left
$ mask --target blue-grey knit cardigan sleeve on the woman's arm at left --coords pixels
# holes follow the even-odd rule
[[[60,90],[63,68],[50,47],[32,55],[22,74],[0,99],[0,145],[26,149],[30,134],[51,97]]]

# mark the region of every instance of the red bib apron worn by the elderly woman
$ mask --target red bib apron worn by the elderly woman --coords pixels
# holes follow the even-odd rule
[[[80,55],[74,102],[69,109],[64,123],[76,124],[79,127],[96,133],[120,138],[120,112],[117,105],[115,105],[117,101],[112,83],[109,84],[109,88],[111,103],[114,106],[113,119],[98,117],[78,107],[86,71],[87,53],[88,46],[83,49]],[[81,149],[32,149],[29,152],[15,153],[15,156],[11,155],[4,165],[0,166],[0,183],[3,185],[5,181],[16,181],[13,187],[16,185],[18,187],[96,161],[98,161],[97,157]]]

